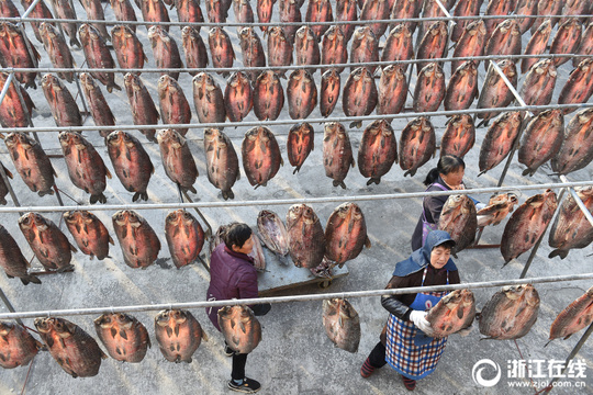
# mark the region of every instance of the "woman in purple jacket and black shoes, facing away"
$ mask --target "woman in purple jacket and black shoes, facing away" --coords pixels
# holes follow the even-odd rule
[[[251,228],[246,224],[231,224],[223,238],[224,242],[221,242],[210,257],[208,301],[257,297],[257,272],[254,259],[248,256],[254,248]],[[260,316],[267,314],[271,305],[266,303],[249,307],[256,316]],[[209,307],[206,313],[220,331],[219,309]],[[248,394],[259,391],[261,385],[245,376],[247,354],[237,353],[227,345],[224,351],[226,356],[233,357],[233,371],[231,372],[231,381],[227,383],[228,388]]]

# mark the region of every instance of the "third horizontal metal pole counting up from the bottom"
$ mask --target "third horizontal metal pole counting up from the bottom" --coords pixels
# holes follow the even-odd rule
[[[495,109],[469,109],[469,110],[456,110],[456,111],[430,111],[430,112],[406,112],[399,114],[385,114],[385,115],[365,115],[365,116],[335,116],[335,117],[322,117],[322,119],[304,119],[304,120],[279,120],[279,121],[242,121],[242,122],[223,122],[223,123],[191,123],[191,124],[163,124],[163,125],[114,125],[114,126],[35,126],[35,127],[3,127],[3,133],[11,132],[97,132],[97,131],[136,131],[136,129],[165,129],[165,128],[206,128],[206,127],[239,127],[239,126],[279,126],[279,125],[294,125],[302,122],[310,124],[326,122],[353,122],[353,121],[374,121],[374,120],[399,120],[411,119],[417,116],[452,116],[458,114],[481,114],[490,112],[508,112],[508,111],[533,111],[533,110],[550,110],[550,109],[585,109],[593,106],[593,103],[579,103],[579,104],[548,104],[548,105],[526,105],[526,106],[506,106]]]

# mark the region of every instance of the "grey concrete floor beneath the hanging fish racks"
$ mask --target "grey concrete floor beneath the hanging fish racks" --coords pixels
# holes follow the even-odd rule
[[[85,12],[77,5],[79,16]],[[20,8],[20,5],[18,5]],[[484,5],[485,7],[485,5]],[[20,8],[21,9],[21,8]],[[21,9],[22,10],[22,9]],[[205,9],[204,9],[205,10]],[[139,12],[136,10],[139,18]],[[111,9],[107,9],[107,18],[113,19]],[[176,12],[170,13],[171,19],[176,19]],[[277,18],[277,15],[276,15]],[[33,34],[27,29],[30,37],[34,41]],[[172,35],[180,45],[179,29],[171,29]],[[228,33],[235,40],[235,49],[240,53],[234,27],[228,29]],[[145,44],[145,50],[150,59],[146,67],[154,67],[150,47],[146,40],[146,30],[138,27],[138,36]],[[260,35],[261,36],[261,35]],[[527,35],[526,35],[527,36]],[[202,37],[205,31],[202,30]],[[41,44],[34,42],[37,48]],[[524,43],[525,45],[525,43]],[[41,67],[51,67],[46,54],[42,50]],[[74,50],[77,64],[83,65],[83,55],[79,49]],[[237,55],[240,59],[240,56]],[[240,60],[236,63],[240,66]],[[446,67],[447,78],[449,67]],[[480,86],[483,82],[483,68],[480,67]],[[560,92],[571,66],[563,65],[559,69],[559,79],[556,86],[556,97]],[[143,74],[143,80],[156,101],[155,74]],[[224,87],[222,78],[216,77]],[[315,76],[317,82],[318,72]],[[343,83],[346,74],[343,74]],[[184,89],[184,93],[191,102],[191,77],[187,74],[179,79]],[[116,76],[116,82],[123,86],[122,76]],[[519,87],[523,77],[519,79]],[[283,81],[286,84],[286,81]],[[414,80],[412,81],[414,84]],[[68,84],[68,89],[75,92],[75,86]],[[41,88],[36,91],[29,91],[37,106],[34,113],[34,125],[54,126],[47,103],[43,97]],[[132,124],[128,103],[125,92],[107,93],[111,109],[116,115],[120,125]],[[411,106],[409,98],[407,106]],[[342,116],[342,109],[338,105],[333,116]],[[287,110],[282,113],[282,119],[288,117]],[[318,117],[316,110],[312,117]],[[567,123],[573,115],[567,116]],[[251,113],[248,121],[256,121]],[[399,138],[401,131],[410,120],[393,122]],[[440,138],[446,119],[434,117],[433,123],[437,128],[437,138]],[[193,122],[198,120],[193,119]],[[369,123],[365,122],[366,127]],[[85,125],[93,125],[92,120],[87,119]],[[301,172],[292,174],[292,168],[288,165],[286,153],[286,136],[290,126],[275,127],[272,131],[279,140],[286,166],[282,167],[277,177],[269,182],[268,187],[254,190],[245,177],[239,180],[234,188],[237,201],[253,201],[262,199],[300,199],[317,196],[351,196],[382,194],[393,192],[417,192],[423,191],[422,181],[427,171],[436,166],[437,158],[433,158],[427,165],[419,169],[414,178],[403,178],[403,171],[398,166],[383,177],[380,185],[366,185],[358,169],[351,169],[345,180],[346,190],[332,187],[332,180],[324,176],[322,166],[322,125],[313,125],[316,134],[316,148],[311,157],[305,161]],[[237,151],[240,150],[240,143],[247,127],[236,129],[226,128],[233,139]],[[358,151],[362,129],[350,129],[350,139],[355,153]],[[503,165],[496,167],[489,173],[477,178],[478,156],[481,142],[486,128],[477,131],[475,146],[466,156],[466,184],[469,188],[495,187],[502,172]],[[163,169],[158,146],[148,143],[138,132],[134,132],[143,142],[146,150],[150,154],[156,172],[148,187],[150,203],[179,202],[175,185],[165,174]],[[87,138],[97,147],[103,157],[108,168],[112,170],[111,162],[107,155],[107,149],[102,139],[97,133],[85,133]],[[48,154],[60,154],[56,133],[41,133],[43,147]],[[199,191],[191,198],[194,201],[210,202],[222,200],[220,192],[211,185],[206,179],[204,167],[205,155],[203,151],[203,131],[199,127],[190,129],[188,133],[191,151],[195,158],[200,170],[200,177],[195,183]],[[5,147],[0,146],[0,160],[15,173]],[[68,179],[66,166],[63,159],[52,159],[58,178],[57,185],[64,194],[72,196],[77,202],[87,204],[88,196],[83,191],[76,189]],[[545,183],[558,181],[556,177],[549,177],[551,172],[549,166],[541,167],[534,177],[522,177],[524,167],[517,163],[516,158],[511,165],[505,184],[524,185],[534,183]],[[112,171],[113,173],[113,171]],[[16,173],[15,173],[16,176]],[[243,174],[244,176],[244,174]],[[571,181],[592,180],[591,167],[569,174]],[[57,205],[55,196],[38,198],[29,191],[22,180],[16,176],[12,182],[21,204],[24,206],[54,206]],[[527,198],[540,191],[532,191],[519,194],[523,203]],[[105,191],[109,204],[131,203],[132,194],[126,192],[119,180],[112,179],[108,182]],[[488,201],[488,195],[475,195],[478,200]],[[65,198],[65,204],[76,204]],[[412,234],[421,212],[422,200],[392,200],[378,202],[362,202],[360,206],[367,218],[369,237],[372,248],[363,250],[355,260],[347,263],[349,275],[333,282],[329,289],[321,290],[316,285],[307,285],[292,291],[284,291],[281,295],[290,294],[318,294],[323,292],[348,292],[362,290],[382,289],[389,281],[395,262],[404,259],[411,252],[410,235]],[[13,203],[9,198],[9,206]],[[325,225],[332,211],[338,203],[315,204],[314,210]],[[261,208],[270,207],[240,207],[240,208],[208,208],[203,214],[215,228],[221,224],[232,221],[243,221],[255,225],[257,213]],[[284,217],[288,206],[273,206],[281,217]],[[112,233],[111,215],[113,212],[94,212],[108,226]],[[163,244],[157,264],[146,270],[133,270],[123,263],[119,245],[111,248],[111,259],[104,261],[91,261],[88,257],[78,252],[74,256],[76,270],[74,273],[43,276],[42,285],[23,286],[19,280],[9,280],[0,275],[0,287],[7,294],[16,311],[42,311],[58,308],[81,308],[81,307],[104,307],[133,304],[156,304],[202,301],[205,297],[205,290],[209,283],[208,272],[201,264],[192,264],[181,270],[176,270],[170,261],[166,240],[164,237],[164,223],[166,211],[146,211],[139,213],[147,218],[149,224],[156,229]],[[54,222],[59,222],[60,214],[47,215]],[[18,228],[18,215],[2,213],[0,211],[0,223],[9,229],[18,240],[21,249],[27,258],[33,256],[26,245],[22,234]],[[61,228],[66,232],[65,226]],[[496,227],[486,228],[482,236],[484,244],[500,242],[504,223]],[[112,237],[114,234],[112,233]],[[208,248],[204,247],[204,251]],[[573,250],[568,258],[548,259],[550,252],[547,238],[542,242],[537,257],[532,266],[528,276],[560,275],[570,273],[586,273],[592,271],[591,248]],[[204,252],[205,253],[205,252]],[[512,261],[507,267],[501,269],[503,258],[499,249],[465,250],[457,260],[461,279],[463,282],[491,281],[504,279],[517,279],[523,269],[528,253]],[[34,267],[40,263],[33,261]],[[506,383],[506,365],[508,360],[532,359],[548,361],[564,360],[582,332],[563,341],[556,340],[548,347],[544,345],[548,338],[550,324],[569,303],[580,296],[591,286],[591,281],[575,281],[564,283],[540,284],[537,289],[541,297],[541,309],[539,319],[532,328],[530,332],[519,339],[516,345],[513,341],[481,341],[481,335],[475,329],[466,338],[451,336],[447,350],[440,361],[436,372],[418,383],[416,393],[418,394],[529,394],[534,388],[511,387]],[[494,294],[495,289],[475,290],[478,307]],[[372,377],[363,380],[359,375],[359,369],[367,353],[372,349],[378,340],[379,332],[387,319],[387,312],[381,307],[378,297],[356,298],[350,301],[358,311],[361,320],[362,338],[358,353],[350,354],[344,350],[335,348],[325,336],[322,326],[321,302],[286,303],[273,305],[272,311],[260,319],[264,330],[264,341],[249,356],[247,364],[247,375],[259,380],[262,383],[262,394],[392,394],[406,393],[401,380],[395,372],[385,368]],[[0,313],[7,313],[4,306],[0,306]],[[27,394],[225,394],[226,380],[230,377],[231,359],[222,353],[223,339],[209,323],[202,309],[192,311],[192,314],[202,324],[210,340],[202,343],[194,354],[191,364],[174,364],[166,361],[154,338],[154,313],[138,313],[135,316],[148,328],[152,337],[153,348],[146,354],[142,363],[128,364],[120,363],[112,359],[103,361],[99,374],[94,377],[72,380],[47,352],[41,352],[32,362],[32,369],[26,381],[27,368],[0,371],[0,394],[21,393],[23,386]],[[71,317],[71,320],[81,326],[85,330],[96,336],[92,319],[94,316]],[[32,319],[26,319],[25,324],[33,326]],[[521,351],[521,353],[519,353]],[[521,357],[523,356],[523,357]],[[491,388],[484,388],[475,384],[472,380],[472,368],[481,359],[491,359],[502,366],[503,380]],[[575,380],[569,380],[572,388],[557,388],[558,394],[590,394],[593,393],[593,351],[591,340],[583,347],[577,356],[588,364],[586,377],[582,379],[584,387],[575,388]],[[26,381],[26,384],[25,384]],[[526,383],[521,380],[510,380],[516,383]],[[516,384],[513,384],[516,385]],[[568,385],[568,384],[567,384]]]

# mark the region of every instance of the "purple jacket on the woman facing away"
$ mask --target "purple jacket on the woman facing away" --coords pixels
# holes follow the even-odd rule
[[[221,242],[210,257],[208,301],[257,297],[257,271],[251,257],[235,252]],[[219,308],[209,307],[206,314],[219,327]]]

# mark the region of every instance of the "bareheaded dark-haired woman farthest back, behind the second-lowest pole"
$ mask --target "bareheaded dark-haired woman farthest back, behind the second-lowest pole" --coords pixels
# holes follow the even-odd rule
[[[455,155],[444,155],[438,160],[437,167],[432,169],[424,180],[428,187],[426,192],[451,191],[466,189],[463,185],[463,174],[466,162]],[[423,246],[428,232],[438,227],[438,219],[445,202],[449,195],[426,196],[422,204],[422,214],[412,234],[412,250],[415,251]]]

